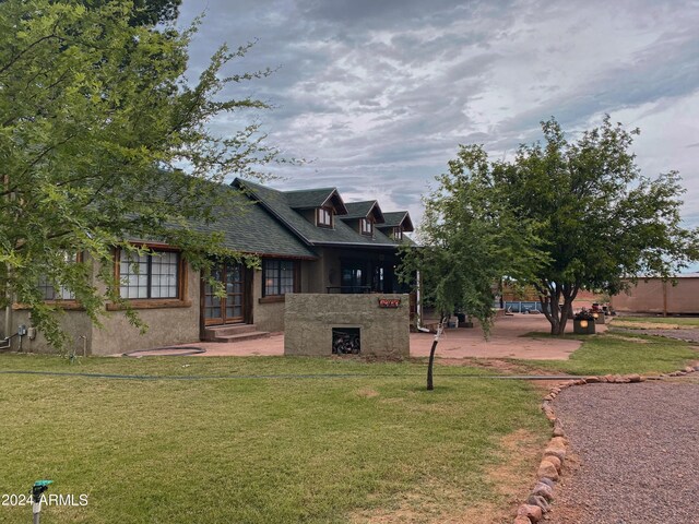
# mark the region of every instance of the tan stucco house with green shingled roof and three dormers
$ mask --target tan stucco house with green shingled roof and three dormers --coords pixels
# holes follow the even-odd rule
[[[221,190],[228,191],[236,205],[220,210],[215,223],[197,227],[222,233],[227,248],[259,257],[260,266],[221,261],[214,277],[226,290],[222,298],[176,246],[132,239],[149,246],[153,254],[117,251],[114,271],[121,297],[149,325],[145,334],[112,303],[98,329],[69,294],[45,286],[47,300],[66,309],[63,329],[74,334],[79,354],[281,332],[289,293],[408,291],[395,274],[398,248],[412,243],[404,236],[413,230],[407,212],[384,213],[377,201],[345,203],[335,188],[280,191],[241,179],[232,186]],[[14,309],[14,330],[31,327],[28,311]],[[22,341],[25,350],[50,350],[40,333],[28,333]]]

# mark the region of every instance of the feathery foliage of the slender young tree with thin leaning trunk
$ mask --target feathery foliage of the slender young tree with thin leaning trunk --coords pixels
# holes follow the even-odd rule
[[[439,187],[423,199],[425,214],[418,248],[403,249],[400,275],[419,272],[425,301],[440,318],[457,310],[477,318],[487,335],[494,314],[494,289],[500,279],[528,279],[545,254],[538,225],[519,218],[496,183],[500,164],[489,164],[482,146],[461,146]]]

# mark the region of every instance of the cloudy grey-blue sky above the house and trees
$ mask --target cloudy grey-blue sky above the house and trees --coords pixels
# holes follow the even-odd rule
[[[273,104],[271,142],[312,160],[275,187],[335,186],[419,218],[460,143],[502,157],[550,116],[574,138],[608,112],[641,128],[644,175],[680,171],[699,226],[697,1],[183,0],[180,23],[202,13],[192,78],[224,41],[258,40],[232,71],[276,69],[230,92]]]

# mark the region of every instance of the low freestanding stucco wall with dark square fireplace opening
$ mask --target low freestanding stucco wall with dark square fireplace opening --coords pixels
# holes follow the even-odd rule
[[[379,298],[401,299],[401,305],[379,308]],[[288,295],[284,323],[285,355],[332,355],[333,327],[360,327],[362,355],[410,355],[407,295]]]

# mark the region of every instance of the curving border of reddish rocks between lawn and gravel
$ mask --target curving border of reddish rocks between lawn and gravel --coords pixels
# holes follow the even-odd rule
[[[553,402],[558,394],[566,388],[573,385],[584,385],[594,383],[635,383],[644,382],[647,380],[663,380],[667,377],[683,377],[688,373],[699,371],[698,366],[687,366],[683,370],[672,373],[663,373],[660,376],[640,376],[640,374],[606,374],[604,377],[585,377],[584,379],[574,379],[562,382],[553,386],[546,396],[542,400],[542,410],[553,427],[552,439],[544,450],[538,471],[536,472],[536,485],[532,489],[526,503],[519,507],[517,517],[513,524],[532,524],[540,522],[544,514],[548,513],[554,500],[554,488],[560,476],[560,469],[566,460],[566,451],[568,440],[561,421],[556,417],[553,408]]]

